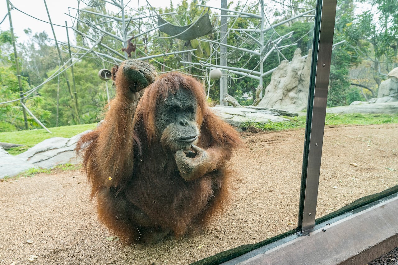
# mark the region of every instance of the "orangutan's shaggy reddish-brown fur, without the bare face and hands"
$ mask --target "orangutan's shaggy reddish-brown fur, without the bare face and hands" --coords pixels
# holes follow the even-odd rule
[[[76,151],[83,153],[99,219],[112,232],[129,242],[156,242],[169,232],[183,236],[209,222],[228,201],[227,162],[240,139],[209,109],[201,84],[190,76],[169,73],[153,81],[153,67],[139,65],[153,83],[140,101],[131,99],[132,78],[123,71],[131,67],[129,61],[135,60],[124,62],[117,72],[117,95],[104,122],[80,138]],[[165,115],[156,109],[180,89],[196,100],[196,145],[210,158],[199,161],[189,179],[181,176],[176,163],[182,151],[165,149],[156,125],[159,115]]]

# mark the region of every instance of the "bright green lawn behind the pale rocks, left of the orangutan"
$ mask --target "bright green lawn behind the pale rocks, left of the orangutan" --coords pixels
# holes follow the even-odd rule
[[[82,124],[82,125],[71,125],[48,128],[51,133],[48,133],[45,129],[34,129],[27,131],[16,131],[0,133],[0,142],[9,142],[13,144],[23,144],[20,147],[14,147],[7,152],[12,155],[17,155],[25,152],[28,148],[35,146],[39,142],[52,137],[65,137],[70,138],[76,134],[82,133],[89,129],[95,129],[96,123]]]

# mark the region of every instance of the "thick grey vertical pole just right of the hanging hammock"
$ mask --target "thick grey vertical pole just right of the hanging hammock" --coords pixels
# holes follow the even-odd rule
[[[226,0],[221,0],[221,8],[226,9]],[[220,27],[220,42],[223,44],[227,43],[227,36],[226,32],[228,30],[228,24],[227,24],[227,12],[226,10],[221,10],[221,27]],[[220,45],[220,65],[221,66],[227,66],[227,60],[226,60],[226,46]],[[223,99],[226,98],[226,95],[228,94],[228,72],[225,70],[222,70],[222,75],[220,78],[220,105],[228,105],[227,102],[224,102]]]

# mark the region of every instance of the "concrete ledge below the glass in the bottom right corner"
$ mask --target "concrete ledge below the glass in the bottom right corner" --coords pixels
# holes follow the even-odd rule
[[[398,197],[316,228],[309,236],[226,264],[366,264],[398,246]]]

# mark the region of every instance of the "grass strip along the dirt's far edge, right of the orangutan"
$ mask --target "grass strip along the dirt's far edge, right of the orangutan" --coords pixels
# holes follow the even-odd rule
[[[306,116],[287,117],[289,121],[258,123],[247,121],[240,126],[249,131],[282,131],[296,128],[304,128]],[[398,123],[398,114],[326,114],[325,125],[370,125]]]

